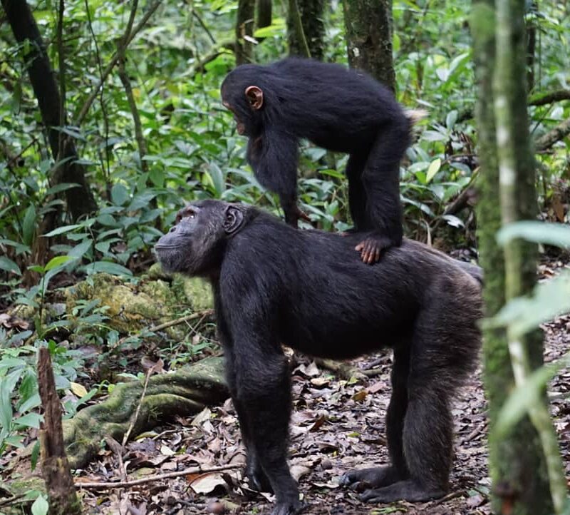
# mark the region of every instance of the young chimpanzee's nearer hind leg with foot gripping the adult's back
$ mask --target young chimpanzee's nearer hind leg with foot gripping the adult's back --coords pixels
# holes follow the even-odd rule
[[[362,183],[366,192],[366,225],[373,232],[356,247],[368,264],[378,261],[385,248],[402,243],[400,159],[409,141],[410,123],[405,118],[384,126],[368,154]]]

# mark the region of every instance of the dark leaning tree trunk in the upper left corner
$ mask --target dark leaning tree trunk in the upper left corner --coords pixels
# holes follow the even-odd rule
[[[68,210],[74,219],[97,210],[95,197],[85,176],[85,168],[78,165],[75,143],[70,136],[60,133],[54,127],[60,126],[61,100],[51,63],[46,53],[36,21],[24,0],[1,0],[6,18],[9,21],[16,41],[30,41],[30,51],[26,55],[26,65],[33,93],[38,99],[43,125],[48,132],[51,155],[56,161],[65,160],[54,174],[54,183],[77,183],[77,188],[66,190]],[[60,146],[60,137],[63,137]],[[60,152],[61,148],[61,152]]]

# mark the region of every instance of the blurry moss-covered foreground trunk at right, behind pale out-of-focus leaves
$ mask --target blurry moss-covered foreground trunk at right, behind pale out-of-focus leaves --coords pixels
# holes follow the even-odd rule
[[[519,0],[510,1],[523,5]],[[536,281],[536,249],[519,242],[503,253],[495,240],[502,222],[534,218],[536,209],[524,89],[526,53],[519,49],[524,41],[522,14],[515,10],[512,20],[501,19],[501,22],[512,23],[512,29],[501,33],[507,29],[497,25],[493,0],[473,2],[471,28],[479,86],[476,118],[481,163],[477,227],[480,262],[485,274],[487,317],[495,315],[509,298],[528,292]],[[509,47],[509,52],[514,54],[507,57],[506,53],[497,53],[497,49],[504,50],[502,47]],[[523,64],[507,63],[507,59],[522,59]],[[509,141],[505,140],[507,128]],[[504,188],[509,189],[509,199],[517,198],[516,205],[507,200]],[[524,342],[524,347],[532,367],[538,367],[542,361],[541,337],[532,335]],[[522,419],[507,438],[494,438],[497,415],[514,387],[507,335],[503,330],[484,332],[483,353],[484,383],[489,401],[489,469],[494,512],[551,514],[544,455],[530,419]]]

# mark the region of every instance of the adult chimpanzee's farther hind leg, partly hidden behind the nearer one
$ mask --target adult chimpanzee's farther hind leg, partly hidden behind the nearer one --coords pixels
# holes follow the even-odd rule
[[[363,491],[388,486],[396,481],[408,478],[408,466],[405,462],[403,449],[403,429],[405,414],[408,409],[409,371],[410,347],[409,342],[405,342],[394,350],[394,364],[391,374],[392,396],[386,413],[386,436],[390,465],[348,471],[341,477],[340,483],[342,485]]]

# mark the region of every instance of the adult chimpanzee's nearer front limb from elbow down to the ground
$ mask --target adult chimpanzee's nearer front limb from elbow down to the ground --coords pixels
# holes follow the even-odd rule
[[[287,464],[291,384],[289,366],[281,348],[236,342],[235,399],[248,431],[248,448],[263,470],[276,496],[272,515],[294,515],[304,509],[299,488]]]

